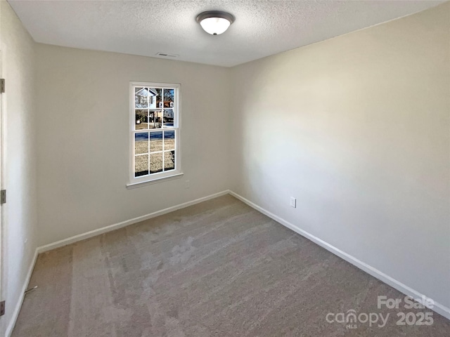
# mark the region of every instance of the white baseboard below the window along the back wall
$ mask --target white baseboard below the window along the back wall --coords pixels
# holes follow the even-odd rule
[[[106,232],[111,232],[113,230],[118,230],[122,227],[127,227],[129,225],[133,225],[134,223],[139,223],[143,220],[148,220],[150,218],[155,218],[157,216],[162,216],[163,214],[170,213],[176,211],[177,209],[184,209],[185,207],[192,206],[195,204],[199,204],[200,202],[207,201],[210,199],[214,199],[217,197],[221,197],[222,195],[229,194],[229,190],[225,190],[222,192],[214,193],[207,195],[206,197],[195,199],[192,201],[184,202],[183,204],[178,204],[172,207],[167,207],[167,209],[162,209],[160,211],[155,211],[153,213],[146,214],[145,216],[138,216],[137,218],[132,218],[130,220],[122,221],[121,223],[115,223],[114,225],[109,225],[106,227],[98,228],[97,230],[91,230],[90,232],[85,232],[82,234],[75,235],[73,237],[69,237],[68,239],[63,239],[57,242],[53,242],[51,244],[46,244],[44,246],[40,246],[37,248],[38,253],[43,253],[44,251],[51,251],[51,249],[56,249],[62,246],[67,246],[68,244],[73,244],[75,242],[89,239],[90,237],[95,237],[96,235],[103,234]]]

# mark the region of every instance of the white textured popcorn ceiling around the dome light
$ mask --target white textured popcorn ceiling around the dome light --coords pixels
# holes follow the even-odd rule
[[[75,48],[233,66],[423,11],[445,1],[23,1],[8,0],[35,41]],[[228,11],[212,36],[198,13]]]

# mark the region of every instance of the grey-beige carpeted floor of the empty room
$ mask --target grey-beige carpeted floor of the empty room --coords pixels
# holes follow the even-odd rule
[[[378,310],[404,295],[231,196],[43,253],[34,285],[13,337],[450,336],[436,313],[397,325],[430,310]],[[390,316],[327,322],[348,310]]]

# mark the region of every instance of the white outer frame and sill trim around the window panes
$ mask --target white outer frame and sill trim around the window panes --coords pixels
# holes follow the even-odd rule
[[[134,176],[134,134],[140,130],[134,130],[135,127],[135,108],[134,108],[134,86],[147,86],[150,88],[174,88],[174,130],[175,130],[175,169],[167,172],[152,173],[147,176]],[[165,180],[181,178],[181,102],[180,102],[180,84],[155,83],[155,82],[129,82],[129,182],[127,187],[138,187],[139,185],[149,185],[160,183]],[[162,107],[164,109],[164,107]],[[171,128],[162,128],[169,131]],[[141,131],[146,132],[146,131]]]

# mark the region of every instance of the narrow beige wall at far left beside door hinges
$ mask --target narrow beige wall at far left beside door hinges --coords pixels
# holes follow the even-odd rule
[[[4,107],[4,187],[8,202],[2,206],[4,258],[1,298],[6,315],[0,336],[12,329],[15,310],[37,247],[36,110],[34,108],[34,41],[6,1],[0,1],[1,77],[6,79]]]

